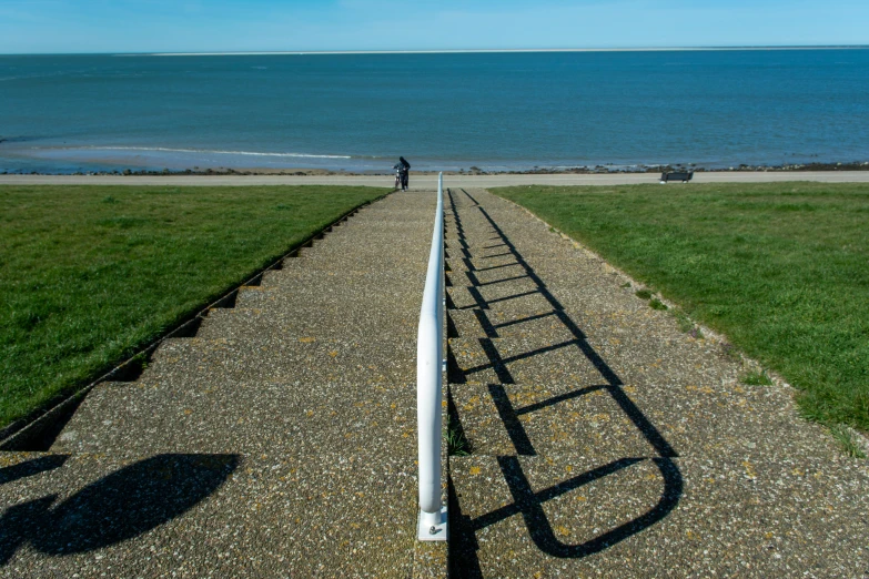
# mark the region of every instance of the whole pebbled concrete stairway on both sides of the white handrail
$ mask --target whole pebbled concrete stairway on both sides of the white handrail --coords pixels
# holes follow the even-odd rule
[[[434,206],[367,206],[93,388],[49,446],[0,453],[0,577],[443,577],[443,544],[415,541]],[[453,577],[869,577],[869,464],[786,384],[741,384],[755,362],[483,190],[448,191],[446,244],[471,445]]]

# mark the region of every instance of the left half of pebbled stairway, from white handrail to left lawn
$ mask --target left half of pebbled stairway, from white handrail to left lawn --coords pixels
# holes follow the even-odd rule
[[[435,197],[363,209],[0,454],[0,576],[411,576]]]

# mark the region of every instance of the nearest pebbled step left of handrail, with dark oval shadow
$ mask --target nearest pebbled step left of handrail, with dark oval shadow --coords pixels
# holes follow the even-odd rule
[[[3,455],[3,577],[410,577],[415,465],[309,455]]]

